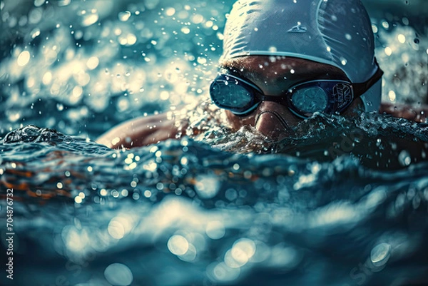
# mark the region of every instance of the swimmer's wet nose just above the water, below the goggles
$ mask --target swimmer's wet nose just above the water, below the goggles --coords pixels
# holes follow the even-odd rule
[[[290,111],[278,103],[263,102],[256,111],[255,128],[272,141],[280,141],[292,135],[294,122],[290,122]]]

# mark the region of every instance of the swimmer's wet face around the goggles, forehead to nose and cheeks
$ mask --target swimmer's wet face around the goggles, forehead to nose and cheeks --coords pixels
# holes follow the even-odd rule
[[[349,81],[340,68],[300,58],[245,56],[225,62],[223,66],[248,78],[263,93],[270,96],[281,96],[292,86],[305,81],[317,79]],[[357,98],[343,116],[355,116],[361,107],[362,101]],[[230,111],[225,112],[233,129],[254,126],[257,131],[272,141],[280,141],[294,134],[292,127],[302,121],[287,106],[273,101],[263,101],[253,112],[245,116],[238,116]]]

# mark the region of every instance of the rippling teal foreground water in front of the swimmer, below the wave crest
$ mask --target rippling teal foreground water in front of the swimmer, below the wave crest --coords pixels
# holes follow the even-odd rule
[[[381,171],[346,155],[237,155],[187,138],[110,150],[31,126],[1,149],[23,283],[65,273],[74,284],[163,285],[168,271],[180,285],[355,283],[362,273],[388,284],[409,259],[428,278],[427,163]],[[39,250],[55,266],[35,265]]]

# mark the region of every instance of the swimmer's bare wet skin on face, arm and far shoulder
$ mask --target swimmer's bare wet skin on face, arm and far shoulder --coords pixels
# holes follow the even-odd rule
[[[253,81],[263,93],[270,96],[280,96],[297,83],[315,79],[347,81],[347,76],[340,68],[300,58],[246,56],[225,62],[223,66],[235,70]],[[362,101],[357,98],[342,116],[358,116],[362,108]],[[399,106],[396,108],[391,103],[382,103],[379,110],[380,113],[387,113],[416,122],[424,122],[427,111],[427,106],[421,108]],[[291,113],[287,106],[270,101],[260,103],[255,111],[245,116],[236,116],[230,111],[225,112],[233,131],[238,131],[243,126],[253,126],[270,141],[280,141],[292,135],[292,127],[302,121],[301,118]],[[185,134],[187,126],[187,123],[175,124],[175,118],[168,113],[162,113],[121,123],[104,133],[97,139],[97,142],[110,148],[133,148],[151,145],[168,138],[179,138],[181,134]]]

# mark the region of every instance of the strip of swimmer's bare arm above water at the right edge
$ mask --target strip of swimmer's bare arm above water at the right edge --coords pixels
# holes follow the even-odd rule
[[[427,120],[428,106],[419,106],[414,108],[407,105],[396,105],[382,102],[379,113],[387,113],[394,117],[406,118],[418,123],[424,123]]]

